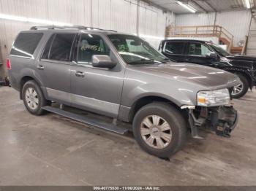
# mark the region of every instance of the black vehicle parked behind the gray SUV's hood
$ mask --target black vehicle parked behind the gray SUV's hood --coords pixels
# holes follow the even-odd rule
[[[233,98],[241,98],[256,85],[256,57],[230,55],[217,44],[190,39],[163,40],[159,50],[177,62],[197,63],[238,75],[242,83],[233,87]]]

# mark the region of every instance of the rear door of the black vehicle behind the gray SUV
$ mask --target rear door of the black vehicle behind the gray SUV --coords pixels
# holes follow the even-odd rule
[[[184,50],[185,50],[185,42],[179,41],[169,41],[165,42],[162,53],[170,59],[173,59],[177,62],[184,62],[186,59]]]

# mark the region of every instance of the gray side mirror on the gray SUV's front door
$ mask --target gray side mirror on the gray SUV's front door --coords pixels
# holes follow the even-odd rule
[[[116,66],[116,63],[114,63],[108,55],[93,55],[92,66],[112,69]]]

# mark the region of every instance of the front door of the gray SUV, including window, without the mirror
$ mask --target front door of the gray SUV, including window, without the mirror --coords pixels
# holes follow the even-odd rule
[[[77,52],[76,64],[71,66],[72,106],[117,117],[124,69],[102,36],[81,34]],[[94,68],[93,55],[109,55],[117,65],[113,69]]]

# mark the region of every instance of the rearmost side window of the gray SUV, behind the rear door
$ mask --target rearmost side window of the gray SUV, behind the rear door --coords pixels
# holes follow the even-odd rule
[[[42,33],[20,33],[15,40],[10,55],[32,58]]]

